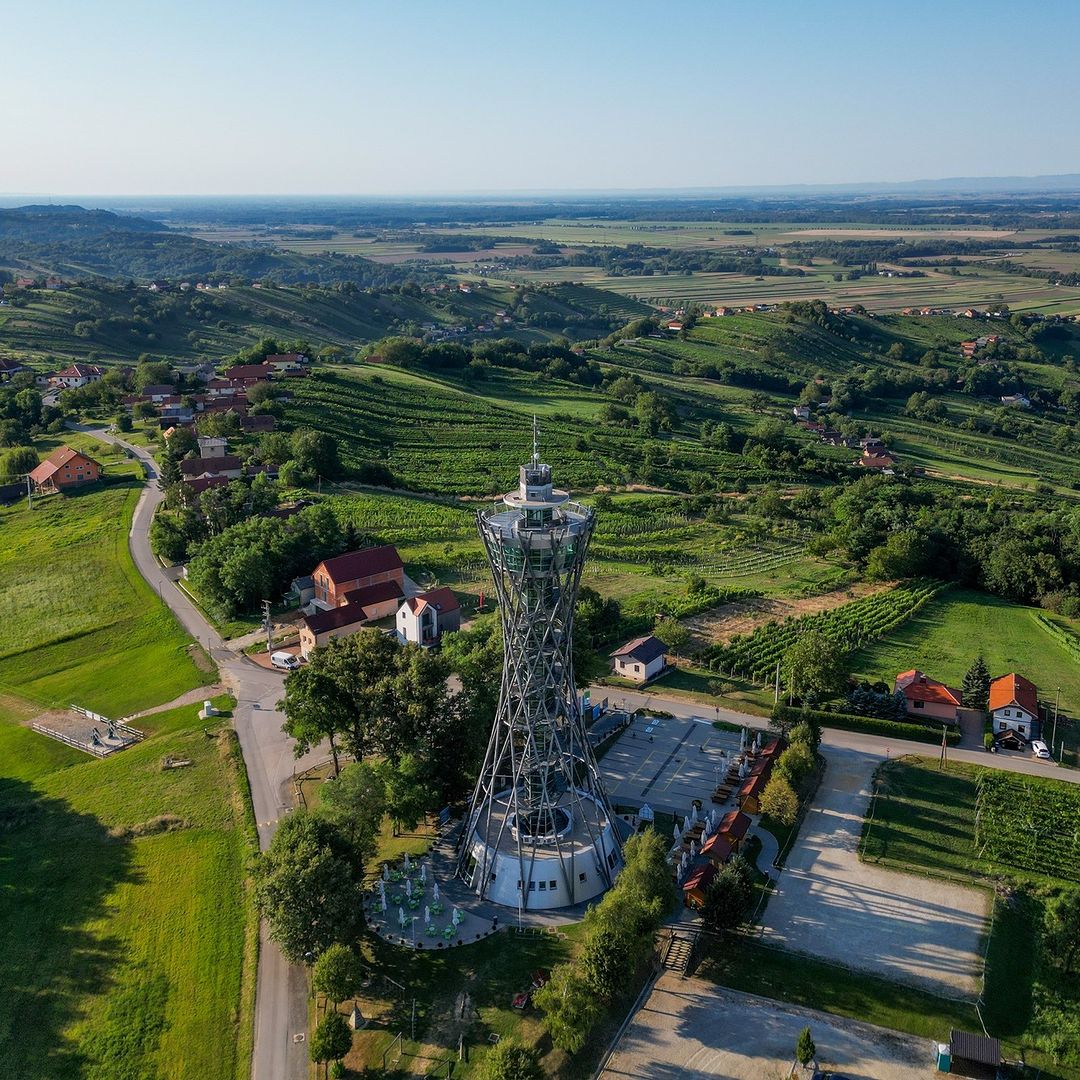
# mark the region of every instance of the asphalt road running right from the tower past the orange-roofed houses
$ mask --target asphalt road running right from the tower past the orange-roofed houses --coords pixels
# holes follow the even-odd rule
[[[716,710],[693,701],[680,698],[665,698],[662,693],[649,690],[623,690],[609,686],[590,687],[593,701],[607,698],[613,707],[625,705],[629,708],[657,708],[671,713],[684,719],[693,719],[700,724],[712,724],[714,719],[727,720],[729,724],[741,724],[748,728],[768,728],[769,721],[764,716],[751,716],[733,708]],[[887,739],[882,735],[867,735],[858,731],[840,731],[837,728],[825,728],[821,741],[822,750],[854,750],[880,758],[895,757],[899,754],[921,754],[935,756],[937,747],[933,743],[910,742],[906,739]],[[1004,769],[1009,772],[1024,772],[1032,777],[1049,777],[1051,780],[1064,780],[1070,784],[1080,784],[1080,770],[1065,769],[1050,761],[1040,761],[1026,754],[1010,753],[987,754],[985,751],[957,750],[950,746],[950,761],[970,761],[990,769]]]

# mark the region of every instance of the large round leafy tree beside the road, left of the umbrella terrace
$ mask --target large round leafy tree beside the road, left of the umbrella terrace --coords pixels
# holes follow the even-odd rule
[[[334,826],[294,813],[255,864],[255,901],[293,963],[352,941],[363,918],[363,867]]]

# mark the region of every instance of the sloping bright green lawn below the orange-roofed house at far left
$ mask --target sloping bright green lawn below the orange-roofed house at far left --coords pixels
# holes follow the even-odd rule
[[[132,562],[140,486],[121,474],[0,508],[0,692],[119,717],[213,681]]]

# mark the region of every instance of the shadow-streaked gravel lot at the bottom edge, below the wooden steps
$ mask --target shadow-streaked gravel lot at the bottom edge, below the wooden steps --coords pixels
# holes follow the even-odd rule
[[[926,1080],[929,1040],[665,974],[631,1021],[600,1080],[781,1080],[809,1027],[819,1063],[850,1080]]]

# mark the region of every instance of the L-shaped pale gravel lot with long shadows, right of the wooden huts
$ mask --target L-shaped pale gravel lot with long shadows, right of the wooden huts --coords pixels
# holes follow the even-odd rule
[[[765,910],[765,941],[948,997],[974,998],[988,896],[860,862],[878,758],[836,750],[825,756],[824,780]]]

